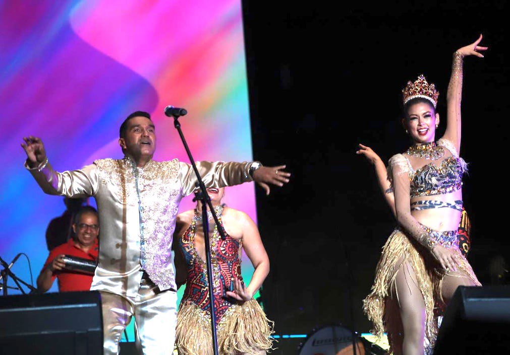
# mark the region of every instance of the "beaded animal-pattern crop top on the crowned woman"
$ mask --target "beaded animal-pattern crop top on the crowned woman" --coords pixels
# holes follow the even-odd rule
[[[443,159],[439,166],[430,162],[416,170],[406,154],[395,154],[390,158],[388,176],[391,170],[398,166],[402,172],[409,173],[411,197],[442,195],[456,191],[462,187],[462,176],[467,171],[464,159],[458,156],[455,147],[450,141],[440,139],[435,144],[437,149],[448,149],[452,155]]]

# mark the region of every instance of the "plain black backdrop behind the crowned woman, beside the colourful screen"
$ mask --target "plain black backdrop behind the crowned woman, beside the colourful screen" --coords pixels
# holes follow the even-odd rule
[[[362,300],[394,220],[355,151],[363,143],[387,161],[407,148],[401,89],[421,73],[440,92],[439,138],[452,54],[480,33],[485,58],[464,63],[468,259],[482,284],[491,283],[491,258],[510,261],[506,10],[505,1],[243,2],[253,156],[292,173],[269,196],[257,189],[271,260],[261,301],[276,334],[331,323],[370,330]]]

